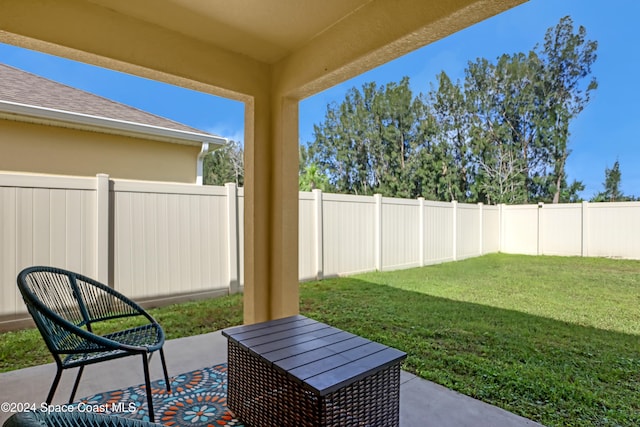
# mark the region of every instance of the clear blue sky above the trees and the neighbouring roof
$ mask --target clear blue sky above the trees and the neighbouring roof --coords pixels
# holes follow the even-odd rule
[[[572,122],[567,161],[569,180],[583,181],[585,198],[602,190],[604,170],[620,162],[622,190],[640,196],[640,16],[638,0],[531,0],[446,39],[319,93],[300,103],[300,142],[313,139],[327,104],[339,103],[352,87],[382,85],[408,76],[414,94],[427,92],[440,71],[462,79],[468,61],[495,60],[502,53],[528,52],[547,28],[570,15],[587,37],[598,41],[593,76],[599,87]],[[165,85],[49,55],[0,44],[0,62],[234,140],[243,140],[243,106],[207,94]]]

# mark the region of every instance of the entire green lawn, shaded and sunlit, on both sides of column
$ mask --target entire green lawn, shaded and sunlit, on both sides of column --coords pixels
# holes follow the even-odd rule
[[[170,338],[241,323],[241,298],[153,310]],[[425,379],[547,426],[640,425],[640,262],[488,255],[301,284],[301,312],[408,353]],[[0,335],[0,369],[50,362]]]

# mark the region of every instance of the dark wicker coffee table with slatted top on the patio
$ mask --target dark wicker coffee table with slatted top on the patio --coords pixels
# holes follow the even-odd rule
[[[225,329],[228,406],[254,426],[397,426],[406,354],[304,316]]]

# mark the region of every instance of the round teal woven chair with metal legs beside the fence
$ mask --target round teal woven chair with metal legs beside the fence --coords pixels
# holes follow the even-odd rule
[[[20,272],[17,281],[27,309],[58,368],[47,404],[53,400],[64,369],[79,368],[69,398],[72,403],[86,365],[138,355],[142,357],[149,419],[153,422],[149,359],[155,351],[160,353],[167,391],[171,391],[162,350],[165,335],[158,322],[119,292],[71,271],[29,267]],[[122,318],[136,318],[136,326],[113,330],[114,323],[109,321]]]

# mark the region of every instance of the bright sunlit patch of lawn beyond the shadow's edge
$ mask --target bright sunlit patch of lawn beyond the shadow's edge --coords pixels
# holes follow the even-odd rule
[[[640,261],[493,254],[359,280],[640,335]]]

